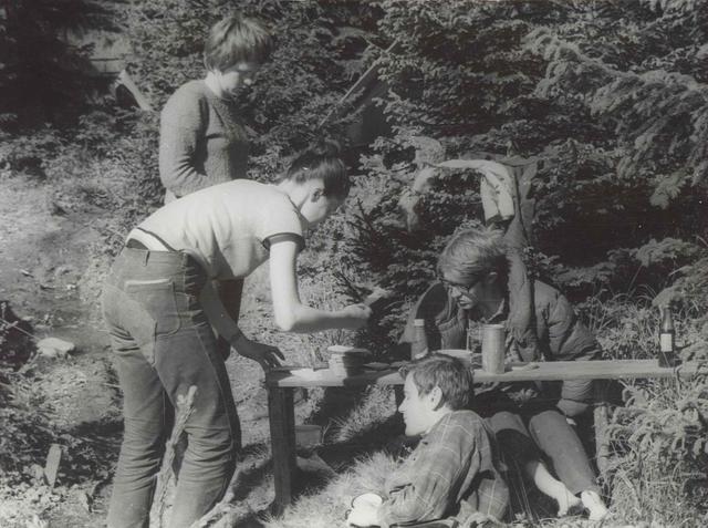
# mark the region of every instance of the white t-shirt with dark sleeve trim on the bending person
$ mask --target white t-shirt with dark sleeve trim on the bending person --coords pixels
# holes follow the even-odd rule
[[[302,249],[305,222],[278,187],[236,179],[170,201],[138,229],[192,256],[210,279],[229,280],[268,260],[278,238],[295,239]]]

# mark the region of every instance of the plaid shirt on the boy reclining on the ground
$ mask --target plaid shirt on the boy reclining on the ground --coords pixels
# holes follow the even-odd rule
[[[472,411],[454,411],[433,426],[392,475],[378,510],[381,526],[475,511],[502,519],[509,488],[500,467],[496,438],[485,421]]]

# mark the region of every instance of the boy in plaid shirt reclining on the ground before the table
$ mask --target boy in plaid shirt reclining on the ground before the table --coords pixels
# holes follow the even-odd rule
[[[355,503],[350,526],[409,525],[456,518],[462,526],[501,519],[509,503],[494,435],[472,411],[472,374],[433,354],[402,369],[398,407],[406,435],[420,443],[388,478],[383,504]]]

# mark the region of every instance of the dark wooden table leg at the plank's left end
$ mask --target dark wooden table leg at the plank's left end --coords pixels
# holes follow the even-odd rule
[[[273,513],[282,514],[292,500],[295,475],[295,414],[293,389],[271,386],[268,389],[268,416],[275,480]]]

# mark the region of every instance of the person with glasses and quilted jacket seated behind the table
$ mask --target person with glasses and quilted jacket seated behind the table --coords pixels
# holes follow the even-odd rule
[[[520,256],[493,228],[455,235],[438,260],[440,281],[410,312],[402,342],[413,341],[413,320],[426,321],[431,350],[466,349],[468,331],[483,323],[507,329],[507,362],[593,360],[601,350],[554,288],[525,273]],[[502,453],[559,503],[559,515],[581,504],[591,519],[607,509],[583,445],[569,420],[589,408],[592,381],[496,383],[478,391],[476,408],[490,421]],[[542,462],[548,458],[560,480]]]

